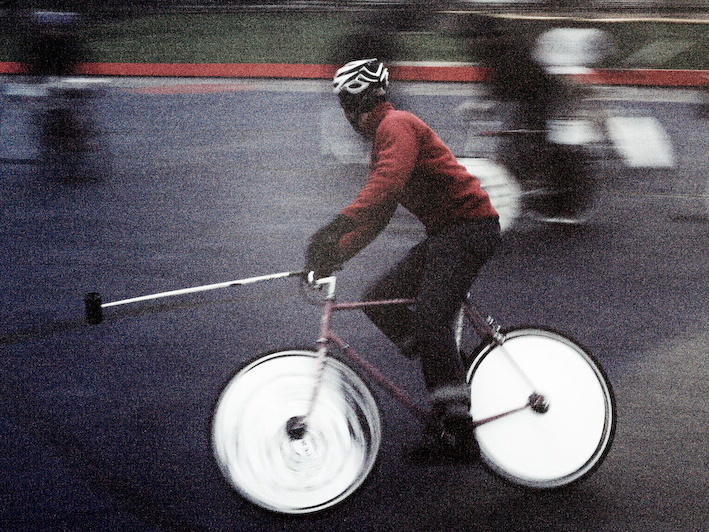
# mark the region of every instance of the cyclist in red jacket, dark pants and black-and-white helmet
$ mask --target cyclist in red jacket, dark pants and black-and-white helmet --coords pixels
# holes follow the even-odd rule
[[[453,322],[499,239],[498,215],[477,178],[422,120],[387,101],[389,74],[378,59],[347,63],[334,93],[352,127],[372,142],[366,185],[310,238],[306,267],[326,277],[367,246],[398,205],[424,225],[426,238],[365,294],[366,300],[411,298],[365,312],[409,358],[421,359],[438,423],[409,451],[416,461],[472,458],[477,445],[470,393]]]

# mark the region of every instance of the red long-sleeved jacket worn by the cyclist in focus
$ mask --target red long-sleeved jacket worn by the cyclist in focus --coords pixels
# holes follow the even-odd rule
[[[497,218],[480,181],[422,120],[384,102],[372,110],[365,127],[374,132],[369,177],[341,211],[358,224],[340,240],[345,259],[374,240],[399,204],[429,236],[456,222]]]

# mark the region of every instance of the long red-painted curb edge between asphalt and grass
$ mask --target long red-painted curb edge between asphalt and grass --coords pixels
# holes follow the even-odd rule
[[[280,63],[85,63],[79,73],[99,76],[233,77],[329,79],[336,65]],[[0,74],[21,74],[20,63],[0,62]],[[392,78],[403,81],[479,82],[487,71],[458,65],[393,65]],[[596,69],[577,75],[584,83],[664,87],[709,86],[709,70]],[[216,90],[216,89],[215,89]]]

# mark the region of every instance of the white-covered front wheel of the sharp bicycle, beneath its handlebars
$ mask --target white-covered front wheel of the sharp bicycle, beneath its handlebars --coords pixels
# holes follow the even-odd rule
[[[379,409],[367,384],[328,357],[304,432],[293,422],[310,406],[317,353],[262,356],[226,384],[212,420],[214,456],[227,482],[267,510],[303,514],[351,495],[381,443]]]

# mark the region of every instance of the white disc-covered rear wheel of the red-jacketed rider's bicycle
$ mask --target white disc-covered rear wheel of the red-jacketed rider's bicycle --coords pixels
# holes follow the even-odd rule
[[[557,488],[590,475],[615,433],[613,391],[595,359],[570,338],[544,329],[514,329],[502,345],[484,346],[468,370],[474,420],[485,464],[531,488]]]

